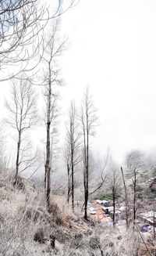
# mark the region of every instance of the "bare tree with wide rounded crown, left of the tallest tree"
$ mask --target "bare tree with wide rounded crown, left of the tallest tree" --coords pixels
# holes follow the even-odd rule
[[[7,123],[16,129],[17,133],[16,183],[19,171],[27,170],[27,168],[30,168],[36,162],[36,154],[33,157],[27,158],[30,145],[26,145],[24,135],[37,123],[37,96],[30,82],[21,79],[18,83],[12,81],[11,97],[9,101],[6,100],[5,106],[10,114]]]

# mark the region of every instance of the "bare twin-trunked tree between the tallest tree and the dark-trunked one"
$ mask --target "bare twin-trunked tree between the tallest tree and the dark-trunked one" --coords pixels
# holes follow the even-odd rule
[[[68,201],[71,190],[72,208],[74,211],[74,171],[76,164],[79,164],[80,156],[80,132],[78,131],[78,119],[76,114],[75,102],[72,101],[69,107],[69,121],[66,125],[66,139],[68,151],[66,154],[66,163],[68,171]],[[71,175],[70,175],[71,169]],[[70,181],[71,176],[71,181]]]

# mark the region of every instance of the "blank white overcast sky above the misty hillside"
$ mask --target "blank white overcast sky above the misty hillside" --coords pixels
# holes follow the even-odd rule
[[[81,0],[63,16],[62,110],[90,86],[100,125],[93,148],[119,163],[156,148],[156,1]],[[2,114],[5,90],[0,85]]]

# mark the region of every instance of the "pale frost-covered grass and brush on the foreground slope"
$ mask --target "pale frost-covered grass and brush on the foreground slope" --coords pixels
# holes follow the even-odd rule
[[[0,175],[0,255],[148,255],[140,254],[144,244],[137,231],[85,222],[80,209],[73,214],[64,197],[52,196],[48,213],[43,188],[34,188],[24,178],[15,187],[12,172],[1,171]],[[55,236],[55,249],[51,236]],[[151,237],[142,236],[148,243]]]

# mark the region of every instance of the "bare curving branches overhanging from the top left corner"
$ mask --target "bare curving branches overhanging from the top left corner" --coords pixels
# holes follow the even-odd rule
[[[40,59],[41,43],[44,39],[44,27],[48,20],[55,19],[76,4],[69,0],[63,8],[62,0],[52,3],[53,13],[41,0],[7,0],[0,1],[0,81],[16,77],[22,71],[34,70]],[[14,65],[12,74],[4,70]]]

